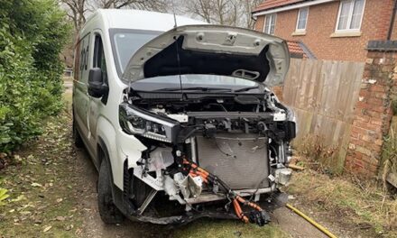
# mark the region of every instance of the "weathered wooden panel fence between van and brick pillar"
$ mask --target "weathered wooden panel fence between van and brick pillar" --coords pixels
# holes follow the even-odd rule
[[[308,135],[335,152],[333,167],[343,168],[363,62],[291,59],[282,87],[282,101],[295,110],[300,144]],[[335,160],[336,159],[336,160]]]

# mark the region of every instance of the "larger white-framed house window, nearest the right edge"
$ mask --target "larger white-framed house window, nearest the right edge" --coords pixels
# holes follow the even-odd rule
[[[364,4],[365,0],[344,0],[340,2],[337,15],[337,32],[360,30]]]

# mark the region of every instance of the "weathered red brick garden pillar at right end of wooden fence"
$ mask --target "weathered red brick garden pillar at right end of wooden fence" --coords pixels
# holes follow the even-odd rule
[[[393,49],[395,50],[395,49]],[[369,51],[355,104],[346,169],[373,176],[382,155],[383,136],[392,120],[391,96],[397,90],[397,52]]]

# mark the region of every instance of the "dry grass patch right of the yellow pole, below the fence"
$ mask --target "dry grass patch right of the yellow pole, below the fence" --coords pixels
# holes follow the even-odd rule
[[[397,201],[381,186],[355,178],[329,178],[310,169],[294,175],[288,192],[314,213],[352,226],[365,236],[397,237]]]

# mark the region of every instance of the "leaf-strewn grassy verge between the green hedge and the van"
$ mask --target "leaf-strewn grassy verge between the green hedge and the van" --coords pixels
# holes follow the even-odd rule
[[[17,151],[1,171],[0,187],[10,195],[0,206],[2,237],[73,237],[80,229],[67,124],[66,114],[52,118],[40,140]]]

